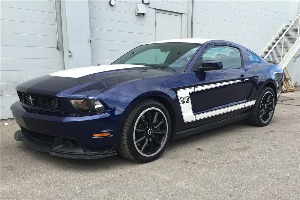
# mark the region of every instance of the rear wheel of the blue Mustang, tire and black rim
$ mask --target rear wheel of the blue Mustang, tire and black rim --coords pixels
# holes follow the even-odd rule
[[[251,115],[246,120],[248,124],[259,127],[268,125],[274,115],[275,101],[272,88],[262,88],[252,107]]]

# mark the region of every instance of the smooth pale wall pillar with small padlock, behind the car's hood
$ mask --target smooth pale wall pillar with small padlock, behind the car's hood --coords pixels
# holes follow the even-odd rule
[[[91,66],[88,1],[61,1],[64,68]],[[69,51],[71,55],[69,55]]]

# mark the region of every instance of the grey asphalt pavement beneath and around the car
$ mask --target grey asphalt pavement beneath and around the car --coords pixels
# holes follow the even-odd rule
[[[281,95],[266,127],[240,121],[178,139],[144,164],[50,156],[15,141],[19,126],[2,120],[1,199],[300,199],[297,90]]]

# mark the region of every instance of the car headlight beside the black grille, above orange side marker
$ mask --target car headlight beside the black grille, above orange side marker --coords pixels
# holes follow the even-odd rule
[[[101,112],[106,113],[104,106],[97,99],[71,99],[67,98],[70,101],[72,106],[78,110],[83,112]]]

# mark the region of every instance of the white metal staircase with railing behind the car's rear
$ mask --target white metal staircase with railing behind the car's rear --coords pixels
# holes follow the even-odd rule
[[[270,43],[260,53],[260,56],[267,60],[280,64],[284,72],[284,82],[282,92],[295,91],[286,65],[293,58],[300,47],[300,14],[291,25],[284,25],[273,37]],[[277,37],[276,37],[277,36]],[[264,53],[263,55],[261,55]]]

